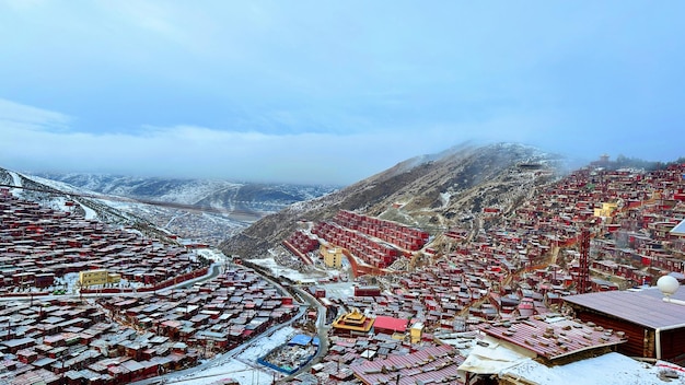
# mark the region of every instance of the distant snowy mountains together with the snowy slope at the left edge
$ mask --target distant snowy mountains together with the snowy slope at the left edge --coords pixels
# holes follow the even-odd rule
[[[15,194],[62,209],[67,200],[86,218],[111,223],[146,222],[210,245],[259,218],[335,190],[334,186],[232,183],[95,174],[25,175],[0,168]]]

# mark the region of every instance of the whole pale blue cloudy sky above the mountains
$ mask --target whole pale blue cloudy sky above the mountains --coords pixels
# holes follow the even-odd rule
[[[0,0],[0,167],[347,185],[465,141],[685,156],[682,1]]]

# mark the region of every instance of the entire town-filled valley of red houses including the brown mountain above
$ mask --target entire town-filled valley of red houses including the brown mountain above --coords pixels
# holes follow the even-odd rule
[[[265,213],[219,248],[183,222],[201,209],[139,222],[118,201],[4,187],[0,380],[553,384],[601,362],[603,384],[683,381],[685,307],[655,283],[685,279],[684,175],[466,147]]]

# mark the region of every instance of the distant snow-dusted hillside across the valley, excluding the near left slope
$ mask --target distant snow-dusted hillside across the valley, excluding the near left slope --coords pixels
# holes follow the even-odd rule
[[[259,218],[335,189],[333,186],[233,183],[216,179],[40,174],[35,180],[59,190],[104,195],[100,203],[155,226],[217,245]]]

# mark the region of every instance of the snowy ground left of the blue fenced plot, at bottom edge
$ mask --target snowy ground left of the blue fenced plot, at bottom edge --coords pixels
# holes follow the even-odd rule
[[[287,343],[297,329],[286,326],[274,331],[271,335],[258,337],[244,351],[237,353],[235,358],[224,363],[212,365],[211,368],[196,372],[184,378],[171,378],[167,384],[175,385],[207,385],[221,378],[233,378],[241,384],[268,385],[274,383],[274,376],[283,376],[264,365],[257,363],[257,359],[266,355],[269,351]]]

